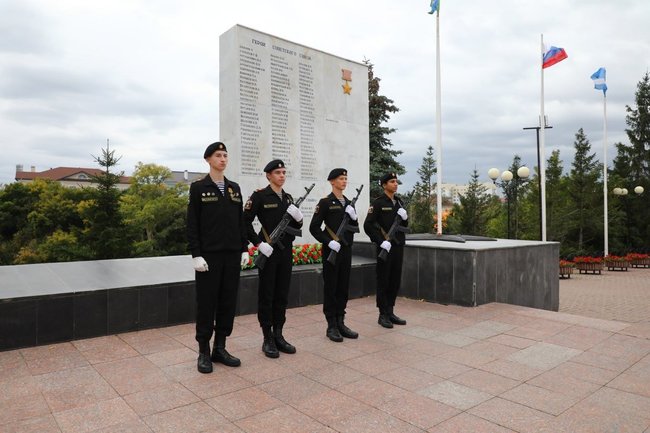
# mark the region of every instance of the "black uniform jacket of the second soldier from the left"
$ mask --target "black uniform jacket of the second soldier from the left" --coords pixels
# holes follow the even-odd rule
[[[263,232],[266,231],[266,234],[271,236],[273,229],[280,223],[292,203],[293,197],[290,194],[282,190],[282,200],[280,200],[280,197],[271,189],[271,185],[251,194],[244,206],[244,223],[248,240],[254,245],[259,245],[262,241],[269,242]],[[253,229],[253,220],[256,216],[263,229],[259,233],[255,233],[255,229]],[[289,225],[299,229],[302,227],[302,221],[298,223],[292,218]],[[290,245],[294,239],[295,236],[285,233],[281,240],[284,245]]]

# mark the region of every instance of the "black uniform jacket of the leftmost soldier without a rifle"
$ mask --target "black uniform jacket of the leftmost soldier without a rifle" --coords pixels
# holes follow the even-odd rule
[[[210,175],[190,185],[187,239],[192,257],[205,252],[248,251],[239,185],[224,178],[225,197]]]

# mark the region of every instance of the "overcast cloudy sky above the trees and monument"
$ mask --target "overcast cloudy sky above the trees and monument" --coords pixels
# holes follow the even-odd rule
[[[435,145],[435,18],[428,0],[0,0],[0,183],[16,164],[93,167],[106,139],[119,168],[202,171],[219,137],[219,35],[235,24],[351,60],[369,59],[400,112],[389,126],[406,187]],[[625,105],[650,68],[647,0],[442,0],[443,182],[476,167],[536,164],[540,34],[569,58],[545,70],[547,156],[565,167],[583,127],[602,156],[627,142]]]

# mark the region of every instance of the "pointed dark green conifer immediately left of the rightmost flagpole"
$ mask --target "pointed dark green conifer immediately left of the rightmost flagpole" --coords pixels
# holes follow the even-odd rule
[[[602,194],[598,180],[601,165],[591,152],[591,144],[582,128],[574,141],[575,156],[568,178],[568,195],[573,203],[572,218],[568,218],[569,242],[576,253],[593,253],[602,250]]]

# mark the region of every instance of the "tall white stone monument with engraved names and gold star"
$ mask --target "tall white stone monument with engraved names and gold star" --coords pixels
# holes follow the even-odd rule
[[[303,237],[315,242],[309,223],[318,200],[329,194],[327,174],[344,167],[346,196],[364,184],[357,202],[361,222],[369,204],[368,68],[275,36],[236,25],[219,38],[219,130],[228,146],[226,176],[245,197],[268,182],[264,166],[287,165],[284,189],[297,199],[316,183],[301,206]],[[367,239],[365,234],[357,239]]]

